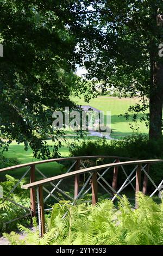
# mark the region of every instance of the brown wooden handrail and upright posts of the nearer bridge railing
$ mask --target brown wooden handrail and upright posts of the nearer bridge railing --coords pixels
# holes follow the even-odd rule
[[[136,160],[136,161],[127,161],[127,162],[119,162],[119,160],[117,160],[114,163],[108,163],[108,164],[102,164],[100,166],[94,166],[94,167],[89,167],[89,168],[85,168],[85,169],[78,169],[79,168],[79,159],[76,163],[76,167],[75,170],[71,173],[66,173],[66,174],[61,174],[61,175],[57,175],[51,178],[47,178],[44,180],[40,180],[40,181],[35,181],[26,185],[23,185],[22,188],[23,189],[33,189],[33,188],[39,188],[37,189],[38,193],[39,193],[39,203],[40,203],[40,223],[41,223],[41,236],[45,233],[45,217],[44,217],[44,210],[43,210],[43,196],[42,196],[42,186],[45,184],[49,184],[53,181],[58,181],[58,180],[64,180],[64,179],[68,179],[74,176],[75,178],[75,182],[74,182],[74,196],[75,198],[78,196],[79,194],[79,175],[81,174],[85,174],[85,173],[91,173],[91,187],[92,187],[92,204],[95,205],[98,202],[98,171],[101,171],[103,169],[106,168],[114,168],[114,187],[112,187],[112,190],[115,190],[115,187],[117,185],[117,172],[118,172],[118,167],[120,166],[128,166],[128,165],[133,165],[136,164],[136,168],[133,169],[133,171],[131,172],[134,173],[136,172],[136,184],[135,184],[135,191],[141,191],[141,175],[142,175],[142,164],[147,164],[148,168],[149,168],[149,164],[152,163],[159,163],[159,162],[163,162],[163,160]],[[131,175],[130,174],[130,175]],[[128,178],[126,179],[126,181],[124,182],[124,184],[121,187],[122,188],[126,185],[127,181],[129,181],[130,175],[128,176]],[[147,181],[145,180],[145,188],[147,186]],[[130,183],[130,182],[129,182]],[[145,190],[144,188],[144,190]],[[120,193],[119,191],[117,192],[117,194]],[[115,198],[115,196],[114,196]],[[113,198],[113,199],[114,199]],[[137,208],[137,202],[135,200],[135,207]]]

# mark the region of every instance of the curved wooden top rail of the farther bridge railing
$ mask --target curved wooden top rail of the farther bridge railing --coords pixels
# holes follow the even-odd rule
[[[48,159],[48,160],[41,160],[41,161],[35,161],[30,163],[22,163],[17,164],[16,166],[10,166],[0,169],[1,172],[6,172],[8,170],[14,170],[18,168],[28,167],[28,166],[34,166],[36,164],[42,164],[42,163],[51,163],[51,162],[60,162],[60,161],[70,161],[70,160],[78,160],[78,159],[96,159],[96,158],[108,158],[108,159],[126,159],[126,160],[135,160],[131,159],[129,157],[123,157],[123,156],[72,156],[72,157],[61,157],[57,159]]]

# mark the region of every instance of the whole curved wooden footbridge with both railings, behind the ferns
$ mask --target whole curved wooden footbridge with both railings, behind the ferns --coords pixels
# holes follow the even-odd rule
[[[105,164],[97,165],[97,163],[101,163],[103,160],[105,161]],[[51,178],[47,178],[46,173],[42,173],[38,168],[38,165],[40,164],[50,162],[67,163],[67,161],[70,163],[70,167],[67,169],[67,171],[64,174],[52,176]],[[93,166],[91,167],[89,166],[90,162],[91,165],[93,163]],[[45,233],[45,211],[50,210],[44,209],[44,205],[49,197],[55,199],[55,202],[59,202],[60,198],[58,197],[58,193],[60,193],[65,200],[70,201],[70,203],[73,205],[78,199],[84,198],[87,193],[91,192],[92,198],[90,202],[92,204],[96,204],[98,202],[98,187],[101,187],[101,189],[108,194],[108,198],[114,201],[117,196],[121,197],[122,191],[127,186],[131,186],[131,188],[134,190],[134,194],[138,191],[142,191],[144,194],[146,194],[148,180],[150,180],[154,186],[154,191],[150,195],[150,197],[152,197],[156,192],[160,191],[163,180],[160,181],[160,184],[156,185],[149,175],[149,167],[151,164],[159,162],[163,162],[163,160],[134,160],[119,156],[78,156],[36,161],[3,168],[0,169],[0,173],[9,172],[9,170],[14,171],[22,167],[27,168],[22,177],[18,180],[17,184],[12,188],[7,196],[5,196],[3,202],[5,200],[9,200],[12,204],[16,204],[26,212],[23,216],[18,216],[12,221],[16,221],[30,215],[34,217],[36,214],[38,214],[40,236],[42,236]],[[121,176],[118,175],[120,169],[125,179],[122,179],[122,173]],[[35,181],[36,172],[42,176],[42,180]],[[107,178],[108,172],[112,176],[111,180],[108,180]],[[21,180],[27,175],[30,177],[30,183],[23,185],[22,189],[30,190],[30,208],[26,208],[11,199],[11,194],[20,184]],[[83,176],[84,181],[81,186],[80,179]],[[66,193],[61,188],[62,181],[66,180],[68,183],[71,179],[73,180],[74,196]],[[143,180],[141,181],[141,179]],[[133,183],[134,180],[135,184]],[[122,183],[120,186],[118,186],[118,189],[117,181],[118,184]],[[46,186],[47,184],[48,188]],[[52,186],[51,190],[49,190],[49,186]],[[46,196],[43,197],[45,193]],[[137,208],[136,200],[135,208]]]

